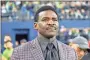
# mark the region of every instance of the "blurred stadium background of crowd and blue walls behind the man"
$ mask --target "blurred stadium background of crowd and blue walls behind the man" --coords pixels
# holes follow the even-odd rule
[[[55,7],[59,15],[60,30],[57,39],[65,44],[78,35],[90,41],[90,1],[0,1],[1,2],[1,51],[4,37],[9,35],[13,47],[33,40],[35,12],[44,5]],[[89,43],[90,44],[90,43]]]

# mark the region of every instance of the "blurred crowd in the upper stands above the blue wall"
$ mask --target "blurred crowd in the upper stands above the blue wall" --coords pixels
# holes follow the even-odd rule
[[[90,19],[90,1],[1,1],[2,20],[32,20],[43,5],[56,8],[60,20]]]

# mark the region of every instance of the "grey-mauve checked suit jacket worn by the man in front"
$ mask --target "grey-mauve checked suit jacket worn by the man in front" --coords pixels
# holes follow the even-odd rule
[[[59,41],[58,47],[60,60],[77,60],[76,53],[72,48]],[[37,38],[15,48],[11,60],[44,60]]]

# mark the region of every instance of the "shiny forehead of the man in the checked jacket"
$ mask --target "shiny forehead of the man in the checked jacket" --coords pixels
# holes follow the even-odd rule
[[[52,10],[45,10],[39,13],[39,16],[42,17],[56,17],[57,18],[57,14],[52,11]]]

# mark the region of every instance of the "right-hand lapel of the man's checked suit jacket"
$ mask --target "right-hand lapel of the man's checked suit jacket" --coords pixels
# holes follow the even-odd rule
[[[64,49],[64,46],[62,46],[62,43],[60,43],[59,41],[58,41],[58,49],[59,49],[60,60],[67,60],[66,50]]]

